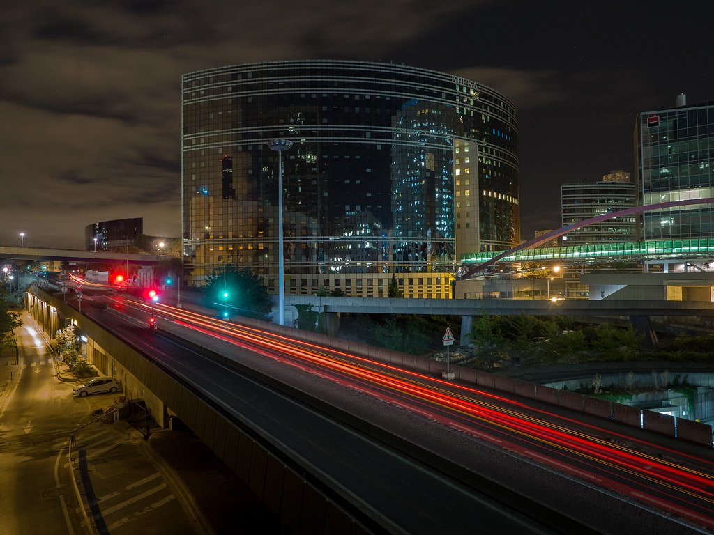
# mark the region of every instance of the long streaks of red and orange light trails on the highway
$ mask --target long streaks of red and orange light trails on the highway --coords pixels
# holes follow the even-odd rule
[[[131,302],[146,310],[151,308],[145,302]],[[605,431],[575,419],[558,417],[480,389],[255,328],[212,320],[188,310],[158,304],[154,310],[157,315],[169,317],[178,325],[200,330],[257,350],[268,357],[297,365],[303,370],[376,395],[473,437],[548,464],[554,469],[595,481],[600,486],[631,496],[657,509],[714,528],[714,479],[711,475],[714,473],[714,462],[671,449],[664,450],[671,457],[677,456],[683,462],[696,463],[703,469],[686,467],[612,444],[597,435],[614,435],[641,446],[653,447],[653,444],[623,434],[613,434],[609,429]],[[545,417],[560,423],[546,422]]]

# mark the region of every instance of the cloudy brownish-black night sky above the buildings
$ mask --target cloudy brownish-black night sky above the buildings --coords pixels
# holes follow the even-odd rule
[[[178,236],[181,74],[301,58],[431,68],[511,98],[531,238],[560,226],[560,184],[633,173],[637,113],[714,101],[713,29],[706,0],[3,2],[0,245],[81,249],[86,225],[137,217]]]

